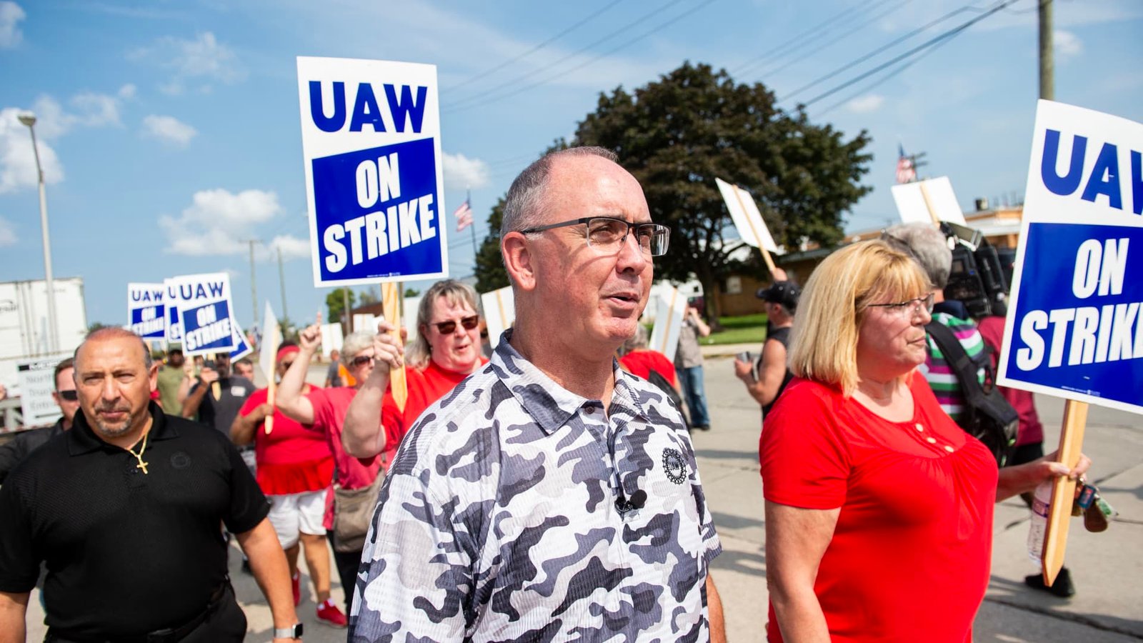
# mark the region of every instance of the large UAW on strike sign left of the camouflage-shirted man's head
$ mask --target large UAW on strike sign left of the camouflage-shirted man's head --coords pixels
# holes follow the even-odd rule
[[[437,68],[297,59],[315,286],[448,275]]]

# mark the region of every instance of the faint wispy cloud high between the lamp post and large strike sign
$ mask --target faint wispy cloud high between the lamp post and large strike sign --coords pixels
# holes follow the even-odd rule
[[[194,39],[160,38],[147,47],[138,48],[127,56],[133,61],[155,61],[173,72],[171,78],[159,85],[163,94],[179,95],[191,82],[201,82],[200,92],[210,92],[211,82],[233,84],[246,78],[234,51],[218,42],[214,33],[207,31]]]

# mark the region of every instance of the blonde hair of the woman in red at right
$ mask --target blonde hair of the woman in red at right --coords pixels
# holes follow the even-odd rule
[[[806,283],[790,334],[790,371],[853,395],[857,387],[857,334],[876,299],[902,301],[932,289],[908,254],[873,239],[825,257]]]

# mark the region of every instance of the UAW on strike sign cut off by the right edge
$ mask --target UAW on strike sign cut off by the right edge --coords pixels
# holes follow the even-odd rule
[[[1004,386],[1143,413],[1143,125],[1040,101]]]

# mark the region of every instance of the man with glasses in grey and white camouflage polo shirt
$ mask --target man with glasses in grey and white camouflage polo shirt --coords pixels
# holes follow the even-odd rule
[[[613,359],[669,233],[614,158],[573,148],[513,182],[514,330],[402,440],[350,641],[725,640],[682,416]]]

